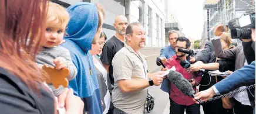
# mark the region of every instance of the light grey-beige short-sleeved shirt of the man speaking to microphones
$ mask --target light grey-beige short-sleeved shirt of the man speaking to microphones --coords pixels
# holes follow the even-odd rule
[[[142,54],[136,53],[126,43],[112,60],[114,89],[112,91],[112,102],[114,107],[126,113],[143,113],[147,97],[147,88],[141,91],[122,93],[117,81],[130,79],[147,79],[147,63]]]

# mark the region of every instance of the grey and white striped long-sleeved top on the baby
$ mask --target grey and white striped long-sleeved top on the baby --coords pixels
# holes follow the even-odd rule
[[[76,66],[73,64],[71,60],[69,50],[65,49],[62,46],[56,46],[52,48],[43,47],[42,51],[36,55],[36,64],[40,68],[42,68],[44,64],[55,67],[53,60],[55,60],[55,58],[57,57],[63,57],[66,59],[66,61],[68,61],[68,80],[73,80],[76,77],[78,70],[76,69]],[[59,96],[65,90],[63,86],[59,86],[59,88],[56,89],[55,87],[53,87],[53,85],[50,84],[49,87],[55,96]]]

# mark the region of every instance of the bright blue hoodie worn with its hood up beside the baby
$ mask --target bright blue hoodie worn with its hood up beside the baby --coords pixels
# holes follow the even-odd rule
[[[97,31],[99,17],[95,4],[78,3],[69,6],[70,20],[63,47],[70,51],[73,63],[78,69],[74,80],[69,81],[69,88],[74,94],[82,98],[85,103],[84,110],[89,114],[102,113],[99,84],[89,50]]]

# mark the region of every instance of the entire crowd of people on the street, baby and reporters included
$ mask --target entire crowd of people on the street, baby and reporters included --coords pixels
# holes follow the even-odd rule
[[[170,46],[160,51],[165,68],[149,73],[146,58],[140,53],[146,42],[143,25],[116,16],[116,34],[107,40],[102,27],[106,15],[100,4],[79,2],[65,9],[47,0],[0,0],[0,9],[1,113],[140,114],[145,113],[148,87],[161,85],[169,94],[170,114],[185,110],[199,114],[195,99],[205,101],[255,84],[255,26],[251,27],[251,39],[242,39],[241,45],[232,47],[230,35],[218,25],[213,40],[194,57],[178,51],[189,50],[191,43],[171,30]],[[182,60],[193,64],[183,68]],[[159,60],[156,64],[161,65]],[[49,82],[44,66],[68,70],[68,87],[56,88]],[[199,86],[201,92],[194,99],[164,78],[173,67],[194,91]],[[206,71],[200,74],[201,69]],[[230,75],[207,73],[214,70]],[[235,78],[241,83],[236,84],[230,79],[232,75],[251,77]],[[254,95],[251,89],[206,102],[204,113],[253,113]]]

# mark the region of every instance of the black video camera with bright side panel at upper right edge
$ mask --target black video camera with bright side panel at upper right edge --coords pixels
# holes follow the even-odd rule
[[[231,19],[228,22],[232,39],[251,39],[251,28],[255,28],[255,12]]]

